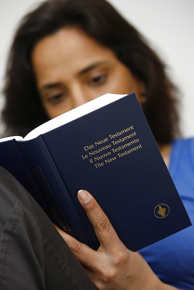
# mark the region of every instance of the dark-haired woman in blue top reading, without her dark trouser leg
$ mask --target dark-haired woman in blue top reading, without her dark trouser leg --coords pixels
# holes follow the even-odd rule
[[[192,219],[193,139],[174,141],[179,136],[176,89],[164,68],[139,33],[106,1],[46,1],[24,18],[16,34],[2,117],[10,135],[26,135],[42,122],[107,92],[135,91]],[[94,224],[100,248],[94,252],[60,233],[97,289],[174,289],[170,285],[193,289],[191,227],[141,251],[155,275],[139,253],[118,240],[93,197],[81,191],[78,198]]]

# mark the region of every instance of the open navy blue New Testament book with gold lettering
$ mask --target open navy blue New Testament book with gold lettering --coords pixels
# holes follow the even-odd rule
[[[78,202],[89,191],[125,246],[138,251],[191,225],[135,96],[106,94],[31,131],[0,140],[0,166],[49,218],[92,249]]]

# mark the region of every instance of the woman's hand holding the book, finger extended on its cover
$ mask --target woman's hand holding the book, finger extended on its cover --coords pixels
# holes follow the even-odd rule
[[[94,226],[100,242],[98,251],[78,242],[58,227],[57,229],[85,268],[96,289],[175,289],[163,284],[138,252],[134,253],[124,246],[109,219],[90,193],[80,190],[78,200]]]

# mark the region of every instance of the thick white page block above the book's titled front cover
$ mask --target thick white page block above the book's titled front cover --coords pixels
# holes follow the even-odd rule
[[[86,104],[83,104],[77,108],[74,108],[73,110],[70,110],[58,117],[55,117],[54,119],[49,120],[48,122],[38,126],[33,131],[28,133],[26,137],[24,137],[24,141],[33,139],[41,134],[44,134],[48,131],[51,131],[59,126],[62,126],[64,124],[67,124],[68,122],[71,122],[81,116],[84,116],[94,110],[97,110],[98,108],[101,108],[103,106],[106,106],[107,104],[110,104],[118,99],[121,99],[122,97],[125,97],[126,95],[117,95],[117,94],[105,94],[103,96],[100,96]]]

